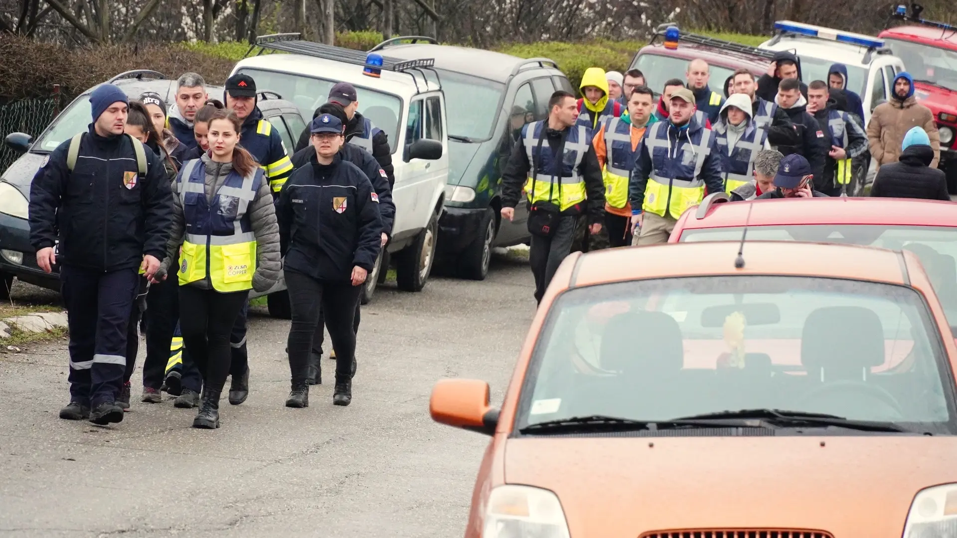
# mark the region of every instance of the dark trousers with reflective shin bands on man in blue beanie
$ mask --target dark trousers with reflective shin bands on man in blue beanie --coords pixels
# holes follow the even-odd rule
[[[136,298],[136,268],[103,273],[60,268],[70,329],[70,396],[97,407],[116,401],[126,370],[126,328]]]

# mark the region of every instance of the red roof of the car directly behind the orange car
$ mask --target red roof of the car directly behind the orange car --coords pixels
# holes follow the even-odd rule
[[[748,218],[748,210],[750,217]],[[909,198],[811,198],[754,200],[714,204],[704,218],[696,210],[682,215],[682,230],[784,224],[890,224],[897,226],[955,226],[957,204],[943,200]],[[675,235],[673,235],[675,236]]]

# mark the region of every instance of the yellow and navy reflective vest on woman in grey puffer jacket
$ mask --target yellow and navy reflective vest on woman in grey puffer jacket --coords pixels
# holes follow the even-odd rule
[[[253,287],[256,235],[247,210],[262,181],[261,168],[246,177],[231,171],[208,202],[205,166],[199,159],[183,165],[176,178],[176,191],[186,229],[192,233],[184,235],[180,284],[209,277],[213,289],[219,292]]]

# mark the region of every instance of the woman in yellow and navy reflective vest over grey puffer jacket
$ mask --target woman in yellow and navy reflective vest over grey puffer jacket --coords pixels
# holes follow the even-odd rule
[[[279,234],[273,194],[262,168],[240,146],[232,110],[210,120],[210,152],[183,165],[173,192],[169,260],[179,262],[180,328],[203,375],[194,428],[219,427],[219,394],[230,372],[230,331],[249,290],[278,280]]]

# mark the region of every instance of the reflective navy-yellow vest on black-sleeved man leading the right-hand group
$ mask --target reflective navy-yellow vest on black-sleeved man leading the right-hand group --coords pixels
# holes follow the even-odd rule
[[[568,129],[564,153],[561,155],[562,168],[555,170],[547,140],[543,141],[537,158],[535,155],[539,138],[545,136],[542,132],[544,129],[545,122],[528,123],[523,127],[525,156],[530,167],[525,192],[528,193],[530,204],[550,201],[557,203],[560,210],[565,211],[585,200],[585,179],[578,173],[578,168],[589,149],[590,131],[583,125],[574,125]],[[556,176],[556,171],[561,175]]]

